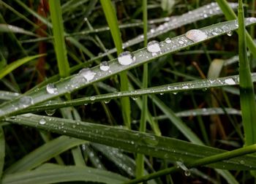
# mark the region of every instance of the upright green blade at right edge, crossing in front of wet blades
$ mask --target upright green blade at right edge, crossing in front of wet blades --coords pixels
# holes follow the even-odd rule
[[[242,120],[244,123],[245,145],[256,142],[256,104],[249,62],[246,53],[246,39],[244,27],[244,9],[242,1],[238,6],[238,47],[239,47],[239,83]]]

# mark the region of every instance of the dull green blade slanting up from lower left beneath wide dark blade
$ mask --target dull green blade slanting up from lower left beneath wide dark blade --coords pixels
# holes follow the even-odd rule
[[[69,150],[76,145],[81,145],[85,142],[86,141],[81,139],[75,139],[66,136],[53,139],[41,147],[38,147],[31,153],[27,154],[25,157],[15,162],[15,164],[12,164],[4,171],[4,175],[34,169],[45,161],[48,161],[50,158],[58,156],[60,153],[63,153],[64,151]]]

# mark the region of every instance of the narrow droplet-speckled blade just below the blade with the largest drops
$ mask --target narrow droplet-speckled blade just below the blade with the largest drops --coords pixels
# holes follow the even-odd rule
[[[252,73],[252,80],[256,82],[256,73]],[[23,110],[20,113],[26,112],[38,112],[42,110],[58,109],[61,107],[78,106],[83,104],[91,104],[97,101],[110,101],[111,99],[121,98],[123,96],[138,97],[146,94],[157,94],[157,93],[176,93],[182,91],[200,90],[206,88],[218,88],[223,86],[238,85],[238,75],[229,77],[220,77],[216,80],[193,80],[182,83],[172,83],[168,85],[160,85],[152,88],[138,89],[134,91],[123,91],[116,93],[107,93],[97,96],[83,97],[80,99],[73,99],[69,101],[56,102],[51,104],[40,104],[34,107],[29,107],[27,110]]]

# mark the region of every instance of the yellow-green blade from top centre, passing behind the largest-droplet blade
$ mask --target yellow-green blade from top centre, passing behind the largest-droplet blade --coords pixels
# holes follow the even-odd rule
[[[118,28],[118,20],[115,14],[116,11],[113,8],[113,4],[110,0],[100,0],[100,3],[102,4],[102,9],[105,13],[105,18],[107,19],[108,26],[110,27],[110,32],[113,38],[113,42],[116,46],[117,53],[120,54],[121,52],[123,52],[123,49],[122,49],[122,42],[121,42],[121,34]],[[127,91],[129,89],[127,72],[120,73],[120,80],[121,80],[121,91]],[[128,97],[124,97],[121,99],[121,112],[124,118],[124,123],[130,129],[131,107],[130,107],[130,101]]]

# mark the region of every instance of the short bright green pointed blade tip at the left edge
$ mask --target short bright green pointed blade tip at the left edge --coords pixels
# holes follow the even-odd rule
[[[4,67],[4,69],[0,70],[0,79],[6,76],[7,74],[10,74],[12,70],[17,69],[19,66],[28,63],[29,61],[34,61],[34,59],[42,57],[46,54],[39,54],[39,55],[33,55],[33,56],[27,56],[25,58],[21,58],[17,61],[13,61],[12,64],[8,64]]]

